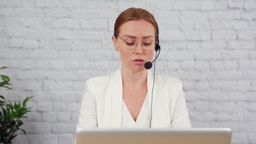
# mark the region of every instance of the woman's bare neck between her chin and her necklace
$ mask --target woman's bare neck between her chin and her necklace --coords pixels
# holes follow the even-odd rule
[[[123,79],[123,86],[134,88],[145,84],[147,85],[148,71],[146,69],[135,72],[122,66],[121,75]]]

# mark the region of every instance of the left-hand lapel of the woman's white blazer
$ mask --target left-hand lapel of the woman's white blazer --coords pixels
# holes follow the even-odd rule
[[[121,67],[114,73],[111,101],[112,110],[110,127],[120,128],[122,126],[123,110],[123,81],[121,76]]]

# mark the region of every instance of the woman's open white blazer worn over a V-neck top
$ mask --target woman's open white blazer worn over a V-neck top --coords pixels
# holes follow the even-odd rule
[[[148,70],[149,106],[153,77]],[[152,106],[152,128],[191,127],[181,80],[155,75]],[[120,128],[122,126],[123,83],[121,69],[97,76],[85,83],[77,128]],[[149,108],[150,110],[150,108]]]

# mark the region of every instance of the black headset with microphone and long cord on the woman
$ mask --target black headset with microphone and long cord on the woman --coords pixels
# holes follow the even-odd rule
[[[156,23],[156,26],[158,27],[158,23]],[[114,37],[118,37],[117,32],[114,32]],[[159,53],[161,51],[161,46],[159,45],[159,30],[157,31],[157,35],[156,35],[156,39],[157,39],[157,43],[155,45],[155,59],[153,62],[146,62],[144,63],[144,67],[145,69],[150,69],[152,68],[154,62],[156,62],[155,60],[158,58]],[[159,52],[158,52],[159,51]],[[158,55],[156,55],[158,53]],[[153,105],[153,91],[154,91],[154,85],[155,85],[155,63],[154,63],[154,81],[153,81],[153,87],[152,87],[152,98],[151,98],[151,108],[150,108],[150,122],[149,122],[149,128],[151,128],[151,121],[152,121],[152,105]]]

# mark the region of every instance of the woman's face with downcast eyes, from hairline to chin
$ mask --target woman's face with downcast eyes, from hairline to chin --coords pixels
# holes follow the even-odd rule
[[[143,49],[145,46],[143,40],[153,40],[155,41],[155,29],[153,25],[145,20],[131,20],[123,23],[119,28],[117,38],[112,36],[112,40],[115,46],[115,49],[119,51],[120,58],[122,61],[122,67],[131,69],[132,71],[142,71],[145,70],[144,63],[152,62],[154,49],[146,51]],[[136,39],[135,49],[128,50],[123,44],[122,39]],[[128,41],[129,42],[129,41]],[[124,41],[124,43],[126,43]]]

